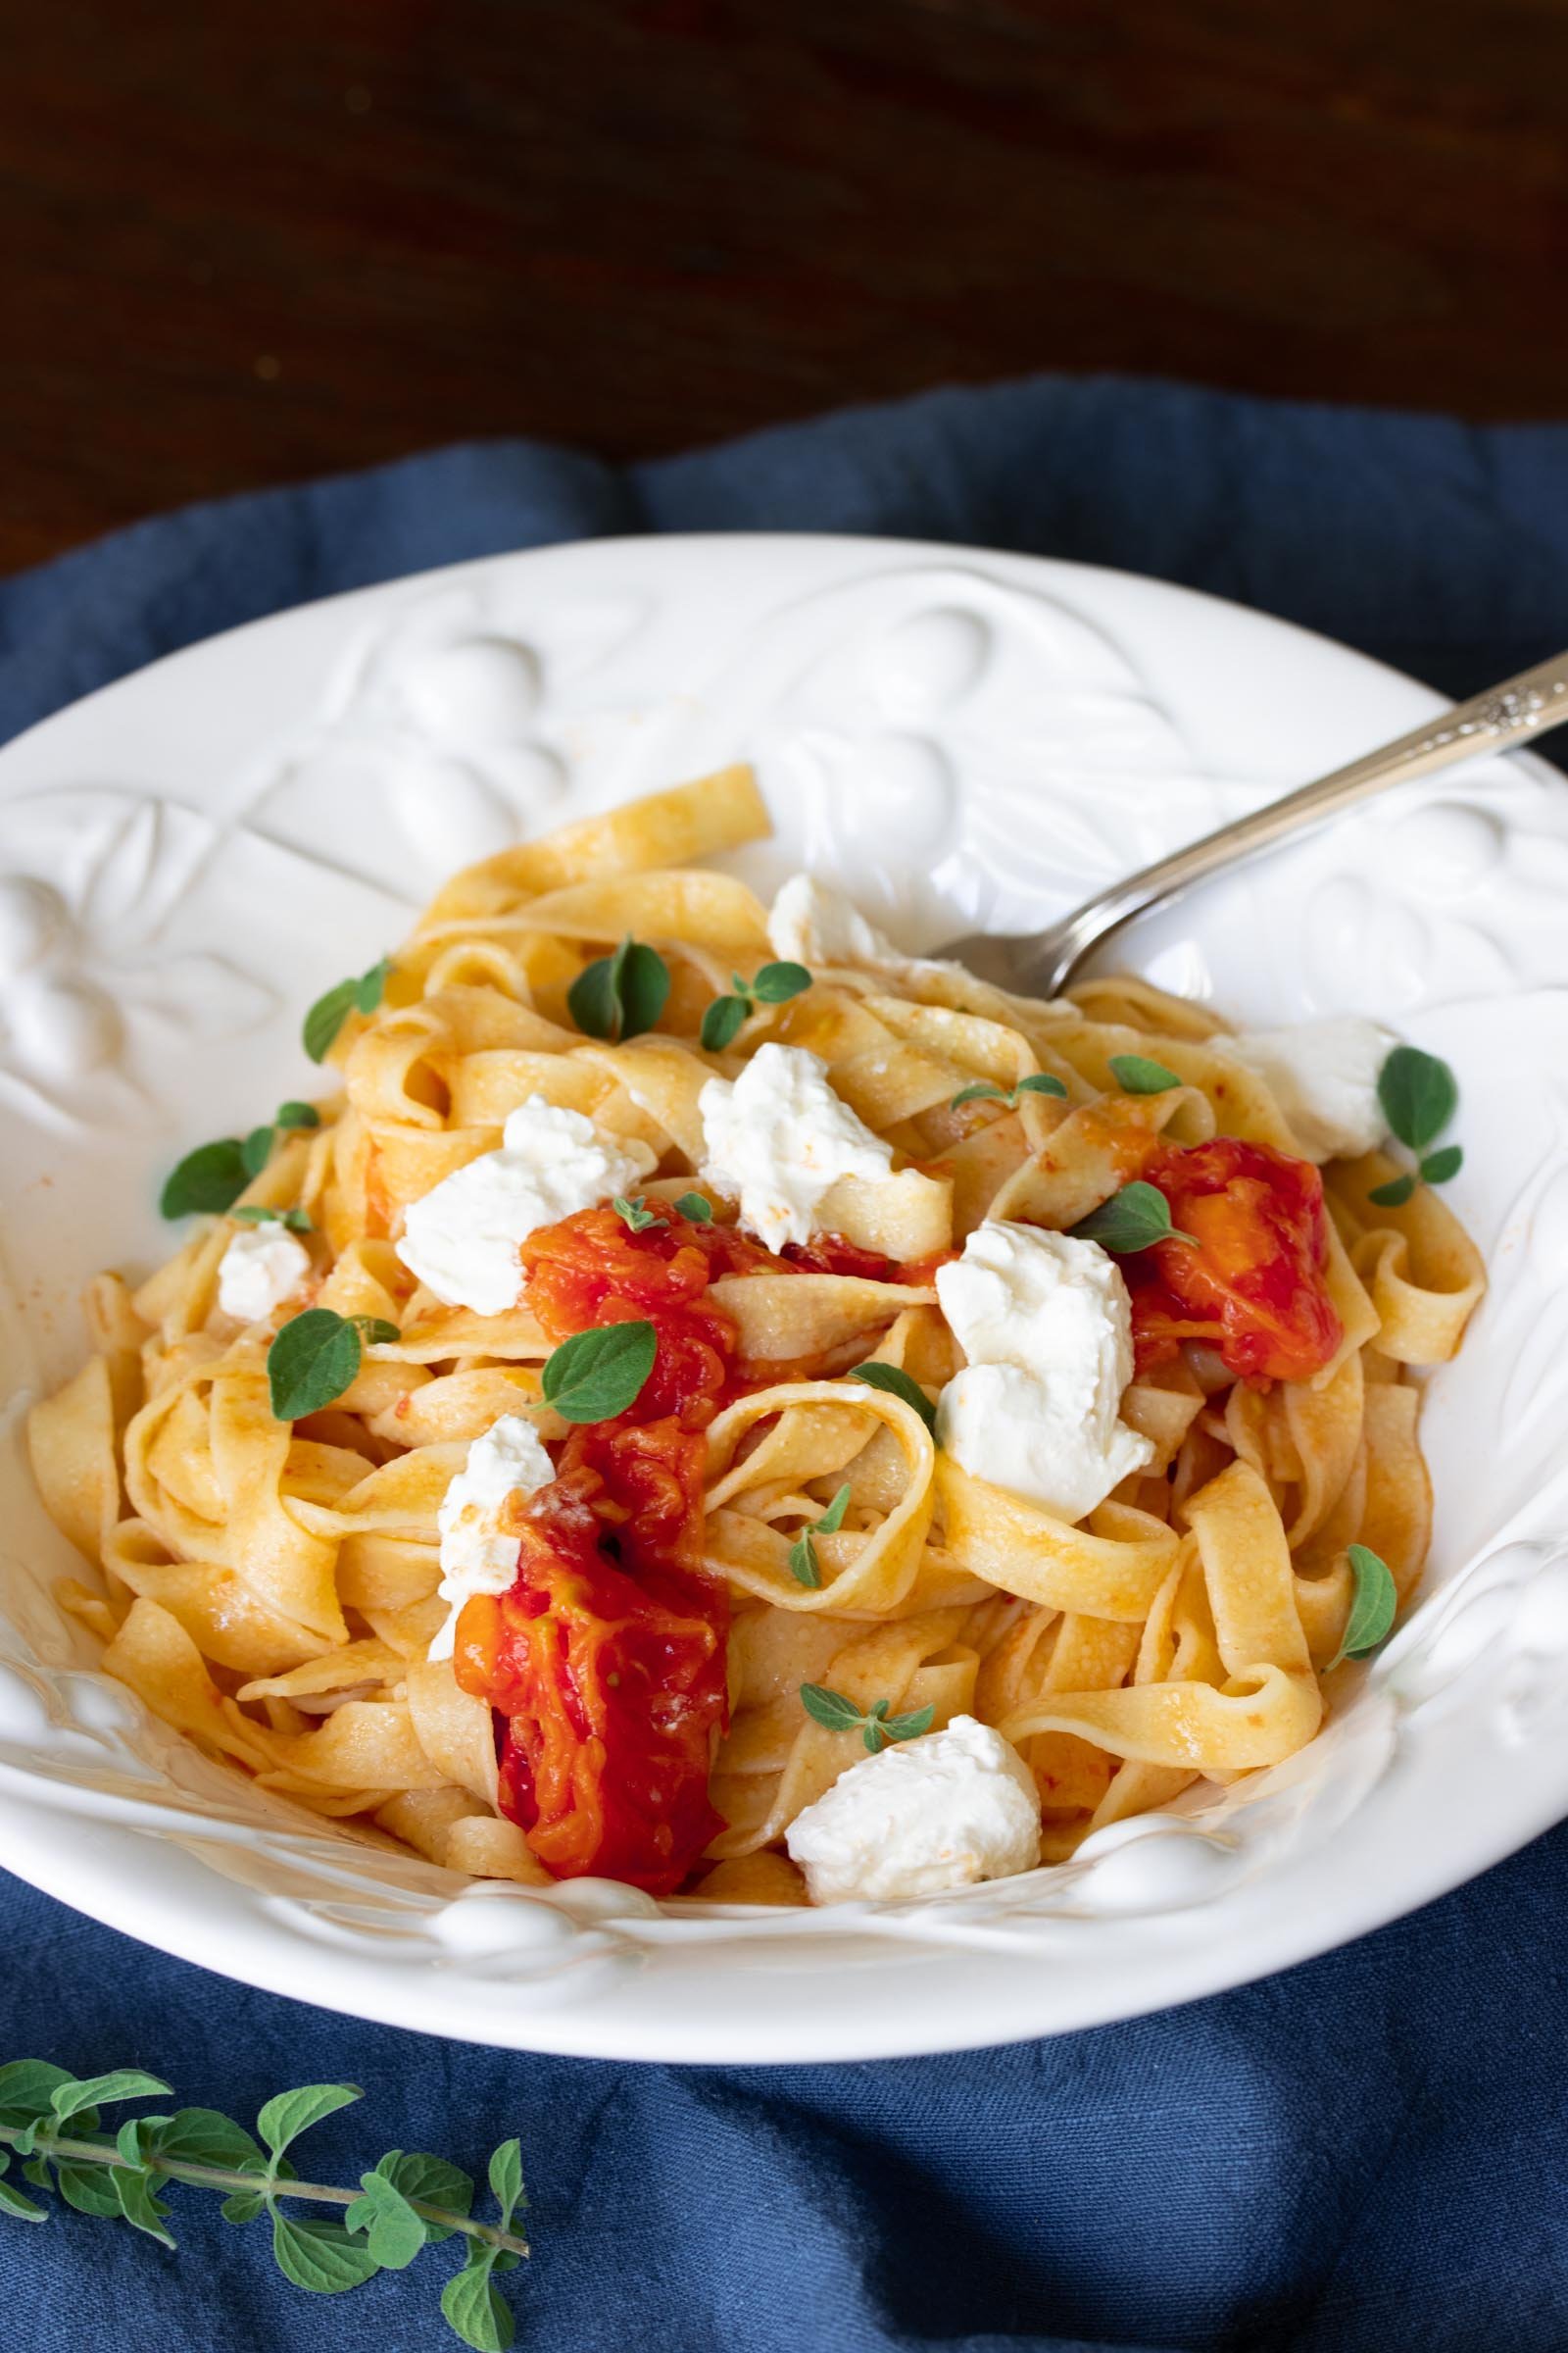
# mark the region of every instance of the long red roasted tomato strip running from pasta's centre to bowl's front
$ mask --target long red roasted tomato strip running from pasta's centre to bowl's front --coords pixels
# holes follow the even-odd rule
[[[703,1431],[736,1327],[708,1282],[748,1252],[675,1212],[630,1233],[614,1209],[524,1245],[524,1299],[552,1341],[628,1320],[658,1334],[632,1409],[574,1428],[529,1501],[512,1588],[458,1619],[456,1678],[496,1713],[501,1812],[557,1878],[670,1894],[722,1828],[708,1772],[729,1595],[703,1569]]]

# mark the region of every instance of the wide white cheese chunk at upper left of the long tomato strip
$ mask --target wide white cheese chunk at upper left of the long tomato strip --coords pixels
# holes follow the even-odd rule
[[[517,1306],[517,1249],[541,1226],[574,1209],[630,1193],[654,1169],[654,1153],[630,1136],[604,1136],[581,1111],[531,1094],[501,1132],[501,1151],[454,1169],[409,1202],[397,1242],[402,1264],[449,1308],[505,1315]]]

